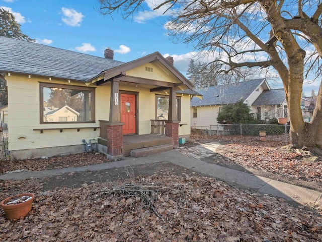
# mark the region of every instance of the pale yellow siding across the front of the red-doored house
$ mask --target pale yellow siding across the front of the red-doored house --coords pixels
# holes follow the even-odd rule
[[[150,65],[150,64],[148,64]],[[170,81],[172,75],[168,75],[163,69],[152,65],[153,72],[157,80]],[[145,65],[144,65],[145,68]],[[144,69],[145,70],[145,69]],[[136,71],[140,77],[151,78],[144,76],[142,72]],[[127,72],[128,74],[128,72]],[[143,76],[142,76],[143,75]],[[99,127],[99,120],[109,120],[110,108],[110,90],[111,84],[96,84],[89,85],[95,87],[95,123],[78,123],[78,124],[40,124],[40,91],[39,82],[50,82],[66,85],[86,86],[82,82],[68,83],[68,80],[52,78],[49,81],[48,77],[37,77],[28,75],[13,74],[7,76],[8,80],[8,107],[10,110],[8,125],[9,125],[9,150],[26,150],[38,149],[46,147],[72,146],[83,145],[82,140],[87,142],[90,139],[99,137],[99,129],[82,129],[90,127]],[[129,87],[120,83],[120,90],[138,92],[138,134],[150,134],[150,119],[155,119],[155,93],[150,92],[150,89],[140,87]],[[180,95],[181,97],[181,123],[179,135],[190,134],[190,96]],[[40,131],[33,129],[49,129]],[[60,128],[75,128],[60,132]],[[77,132],[76,128],[81,128]]]

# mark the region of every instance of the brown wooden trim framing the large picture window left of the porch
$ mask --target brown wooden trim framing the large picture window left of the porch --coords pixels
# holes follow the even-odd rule
[[[82,90],[82,91],[91,91],[92,100],[91,100],[91,121],[76,121],[76,122],[44,122],[44,87],[46,88],[62,88],[62,89],[72,89],[72,90]],[[48,83],[48,82],[39,82],[39,120],[41,125],[50,125],[50,124],[92,124],[96,123],[95,120],[95,87],[84,87],[76,85],[66,85],[59,83]]]

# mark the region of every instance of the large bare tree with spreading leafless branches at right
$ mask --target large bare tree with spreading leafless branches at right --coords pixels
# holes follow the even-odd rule
[[[120,11],[127,18],[145,9],[143,0],[100,0],[102,14]],[[310,123],[304,123],[300,99],[304,75],[320,78],[322,4],[302,0],[156,1],[153,11],[171,13],[170,34],[208,54],[229,75],[248,68],[275,70],[283,82],[296,148],[322,154],[322,87]]]

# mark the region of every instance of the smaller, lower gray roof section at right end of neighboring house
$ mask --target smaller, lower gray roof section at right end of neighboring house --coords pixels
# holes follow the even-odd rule
[[[261,93],[252,105],[280,105],[285,100],[284,89],[271,89]]]

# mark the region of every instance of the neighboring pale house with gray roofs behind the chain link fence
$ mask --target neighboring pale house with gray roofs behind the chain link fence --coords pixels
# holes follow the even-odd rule
[[[247,103],[258,120],[287,117],[287,103],[283,89],[271,89],[265,79],[195,89],[202,99],[191,100],[191,128],[216,129],[217,116],[223,105],[240,99]]]

